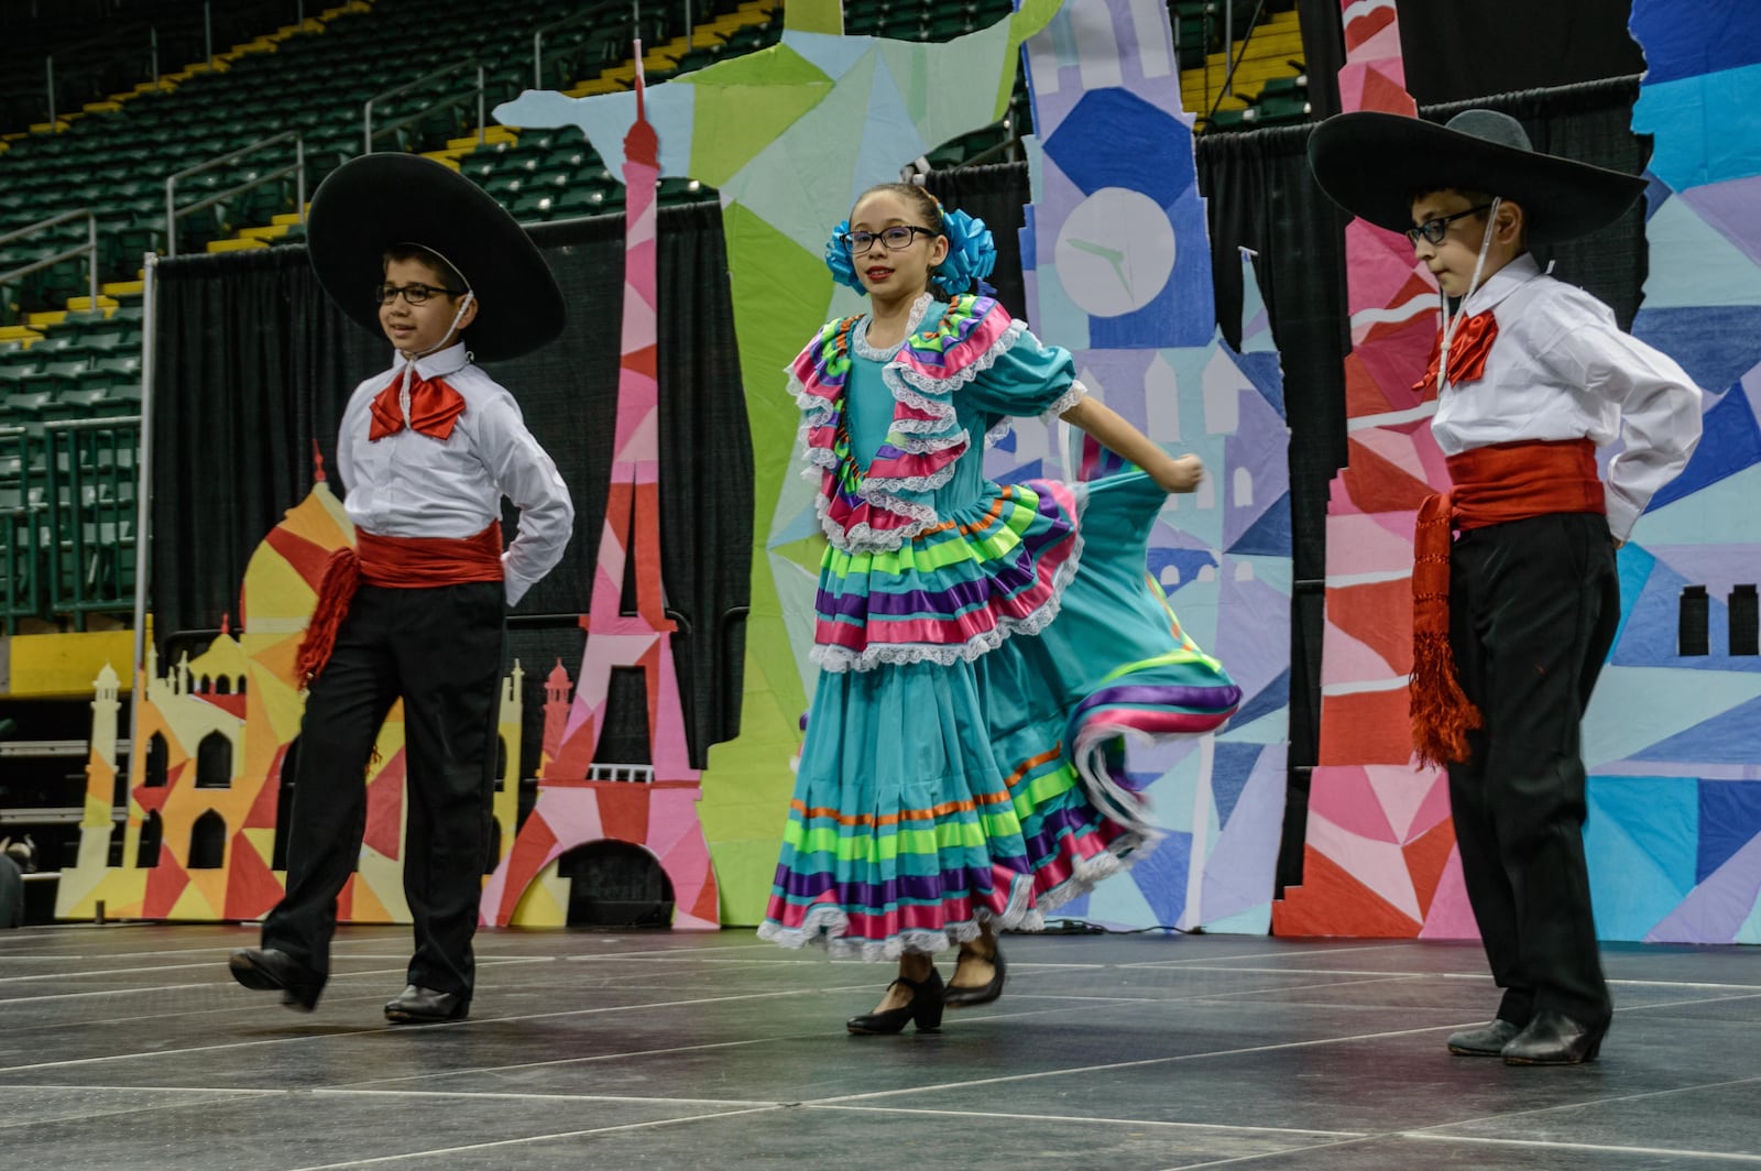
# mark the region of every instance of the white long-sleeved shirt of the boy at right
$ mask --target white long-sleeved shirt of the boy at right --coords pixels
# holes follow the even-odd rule
[[[1463,306],[1493,310],[1499,335],[1483,377],[1446,384],[1432,435],[1446,456],[1513,440],[1622,433],[1608,465],[1608,530],[1625,541],[1652,495],[1687,465],[1699,442],[1699,387],[1668,354],[1615,324],[1583,289],[1544,275],[1523,254],[1486,278]]]

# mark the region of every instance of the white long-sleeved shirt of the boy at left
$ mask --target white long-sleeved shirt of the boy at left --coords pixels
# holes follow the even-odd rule
[[[336,437],[343,507],[357,528],[380,537],[474,537],[502,518],[502,497],[519,509],[519,534],[502,553],[507,604],[556,567],[574,530],[574,505],[556,465],[532,438],[519,405],[465,357],[458,343],[416,363],[465,398],[446,440],[405,426],[370,440],[373,396],[403,373],[393,368],[354,387]]]

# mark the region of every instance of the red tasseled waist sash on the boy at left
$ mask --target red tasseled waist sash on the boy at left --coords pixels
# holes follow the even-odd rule
[[[324,565],[319,602],[294,659],[294,678],[315,680],[336,648],[336,630],[349,615],[356,588],[423,590],[468,581],[502,581],[502,523],[475,537],[380,537],[356,530],[356,548],[336,549]]]

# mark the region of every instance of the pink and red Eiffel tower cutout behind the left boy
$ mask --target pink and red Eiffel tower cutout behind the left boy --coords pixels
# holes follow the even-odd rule
[[[623,343],[618,366],[611,491],[593,569],[586,650],[569,703],[562,664],[546,681],[539,796],[514,847],[483,893],[483,919],[512,921],[527,886],[567,851],[616,840],[646,849],[673,884],[674,928],[720,926],[708,842],[697,821],[699,771],[690,766],[673,632],[660,581],[660,396],[655,375],[655,185],[660,139],[648,122],[636,44],[636,123],[623,139]],[[623,613],[634,569],[636,613]],[[611,676],[639,669],[648,692],[648,762],[601,761]]]

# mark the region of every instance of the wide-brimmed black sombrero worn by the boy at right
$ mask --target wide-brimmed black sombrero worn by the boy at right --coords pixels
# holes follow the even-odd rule
[[[1532,245],[1594,232],[1645,190],[1639,176],[1543,155],[1520,122],[1493,109],[1465,109],[1446,125],[1337,114],[1308,136],[1308,166],[1333,203],[1395,232],[1412,227],[1412,195],[1426,188],[1511,199],[1523,208]]]

